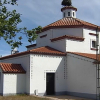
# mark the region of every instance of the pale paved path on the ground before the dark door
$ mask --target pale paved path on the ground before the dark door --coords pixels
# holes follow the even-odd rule
[[[45,98],[48,98],[50,100],[92,100],[92,99],[85,99],[85,98],[79,98],[79,97],[73,97],[73,96],[45,96]]]

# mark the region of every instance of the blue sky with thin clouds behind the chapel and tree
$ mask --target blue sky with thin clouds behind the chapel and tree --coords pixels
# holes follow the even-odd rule
[[[16,9],[21,13],[22,22],[19,27],[33,29],[38,26],[46,26],[62,19],[62,0],[17,0],[18,6],[8,5],[8,10]],[[77,18],[100,26],[100,0],[72,0],[72,5],[78,9]],[[23,45],[19,52],[26,51],[27,38],[23,36]],[[11,47],[0,40],[0,55],[11,54]]]

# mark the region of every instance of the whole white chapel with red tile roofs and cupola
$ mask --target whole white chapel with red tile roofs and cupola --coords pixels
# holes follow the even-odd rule
[[[63,6],[63,18],[42,28],[36,44],[0,58],[0,94],[96,98],[96,37],[100,27]]]

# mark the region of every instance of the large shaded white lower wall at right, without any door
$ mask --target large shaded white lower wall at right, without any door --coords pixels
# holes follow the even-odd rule
[[[66,91],[96,94],[96,65],[92,59],[67,54]]]

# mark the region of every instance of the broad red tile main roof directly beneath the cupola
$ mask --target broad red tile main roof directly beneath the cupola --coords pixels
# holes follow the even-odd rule
[[[66,18],[60,19],[52,24],[45,26],[42,29],[42,32],[48,29],[54,29],[54,28],[76,28],[76,27],[85,27],[85,28],[96,30],[97,25],[94,25],[92,23],[89,23],[89,22],[86,22],[86,21],[83,21],[77,18],[66,17]],[[100,27],[98,28],[100,30]]]

